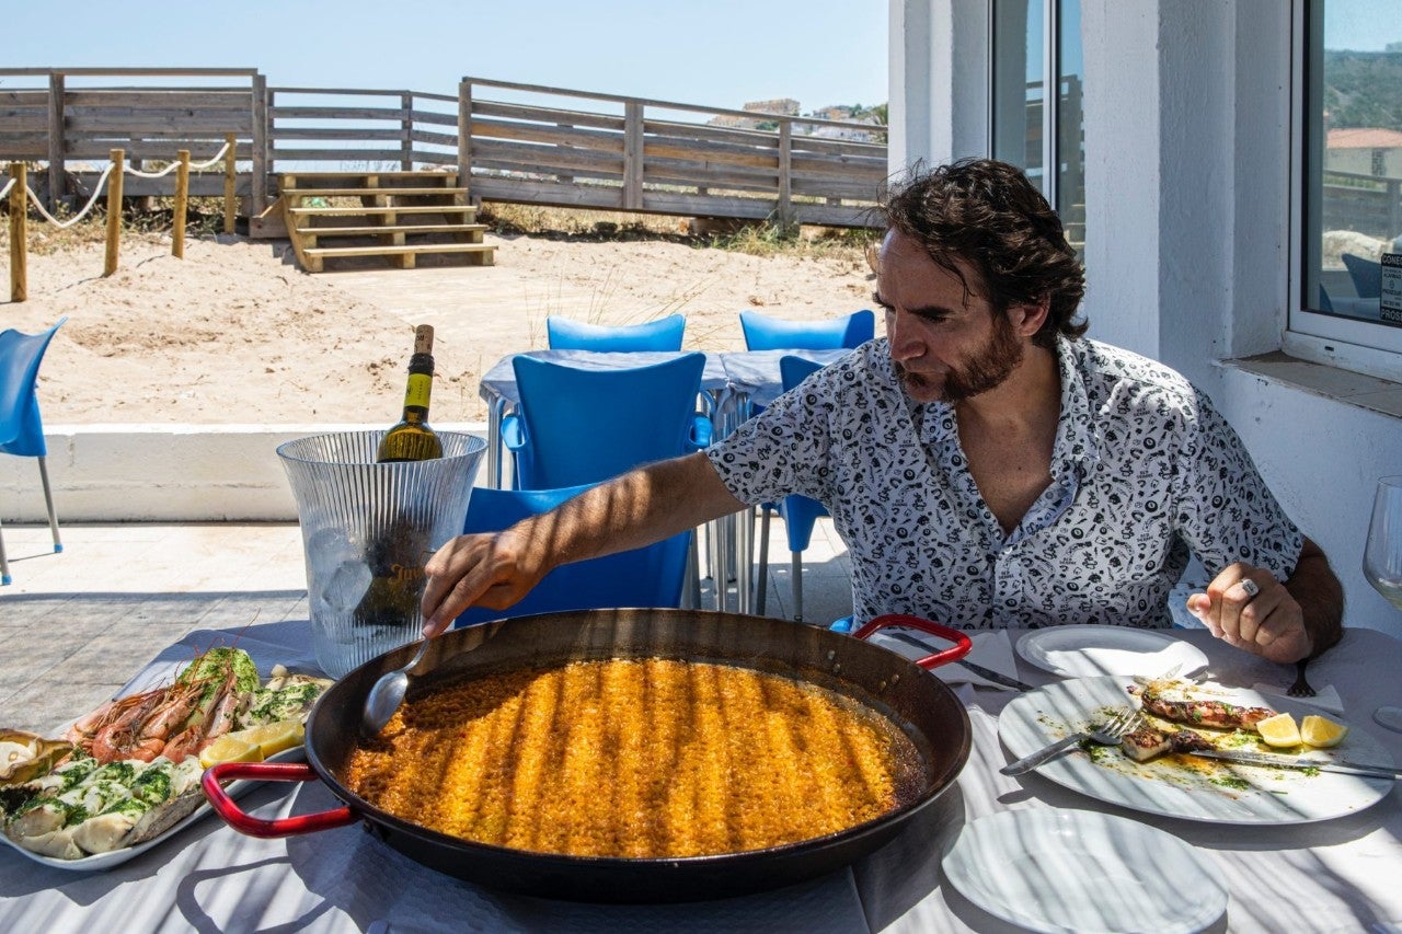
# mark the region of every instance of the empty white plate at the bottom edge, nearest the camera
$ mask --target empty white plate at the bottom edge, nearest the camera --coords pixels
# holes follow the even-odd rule
[[[966,826],[944,868],[970,902],[1035,931],[1176,934],[1200,931],[1227,910],[1227,889],[1204,862],[1137,820],[1022,809]]]

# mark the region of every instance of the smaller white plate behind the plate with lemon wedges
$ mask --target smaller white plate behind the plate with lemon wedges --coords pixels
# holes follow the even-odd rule
[[[1144,675],[1154,677],[1175,665],[1178,675],[1207,668],[1207,656],[1190,642],[1159,630],[1123,625],[1052,625],[1018,639],[1018,655],[1061,677]]]

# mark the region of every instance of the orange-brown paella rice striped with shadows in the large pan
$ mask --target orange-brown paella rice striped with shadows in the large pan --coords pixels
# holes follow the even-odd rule
[[[411,698],[348,785],[454,837],[660,858],[757,850],[876,819],[918,762],[885,717],[803,679],[677,659],[575,661]],[[904,763],[904,764],[903,764]]]

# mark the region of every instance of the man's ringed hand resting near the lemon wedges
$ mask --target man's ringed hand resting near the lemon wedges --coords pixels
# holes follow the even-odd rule
[[[1272,662],[1294,662],[1314,651],[1304,610],[1270,571],[1234,564],[1187,597],[1187,611],[1213,635]]]

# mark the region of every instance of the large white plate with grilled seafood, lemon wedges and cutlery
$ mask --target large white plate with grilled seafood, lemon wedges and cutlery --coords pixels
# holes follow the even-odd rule
[[[1272,704],[1277,704],[1272,707]],[[998,738],[1021,759],[1137,707],[1141,725],[1119,746],[1089,740],[1037,767],[1059,785],[1144,813],[1213,823],[1309,823],[1368,808],[1392,791],[1391,753],[1357,724],[1338,724],[1328,747],[1281,745],[1260,724],[1315,708],[1211,682],[1084,677],[1015,697]],[[1277,718],[1286,719],[1286,718]],[[1223,756],[1255,759],[1228,762]],[[1301,762],[1302,760],[1302,762]],[[1374,774],[1350,763],[1380,767]],[[1338,769],[1338,770],[1336,770]]]

